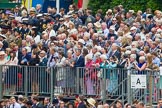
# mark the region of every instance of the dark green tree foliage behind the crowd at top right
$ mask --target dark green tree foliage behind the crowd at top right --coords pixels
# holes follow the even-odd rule
[[[96,12],[102,9],[105,13],[107,9],[112,9],[114,6],[123,5],[126,10],[142,10],[147,8],[152,10],[160,10],[162,7],[162,0],[90,0],[88,8]]]

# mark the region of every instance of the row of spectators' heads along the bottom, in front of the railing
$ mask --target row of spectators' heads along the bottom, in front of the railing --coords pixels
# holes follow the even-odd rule
[[[156,108],[162,107],[162,100],[159,99]],[[66,101],[62,95],[55,97],[52,101],[45,97],[39,99],[37,96],[26,98],[19,95],[18,98],[11,97],[0,101],[0,108],[152,108],[149,105],[135,100],[132,105],[117,100],[114,104],[103,103],[94,98],[85,98],[84,96],[76,96],[74,100]]]

